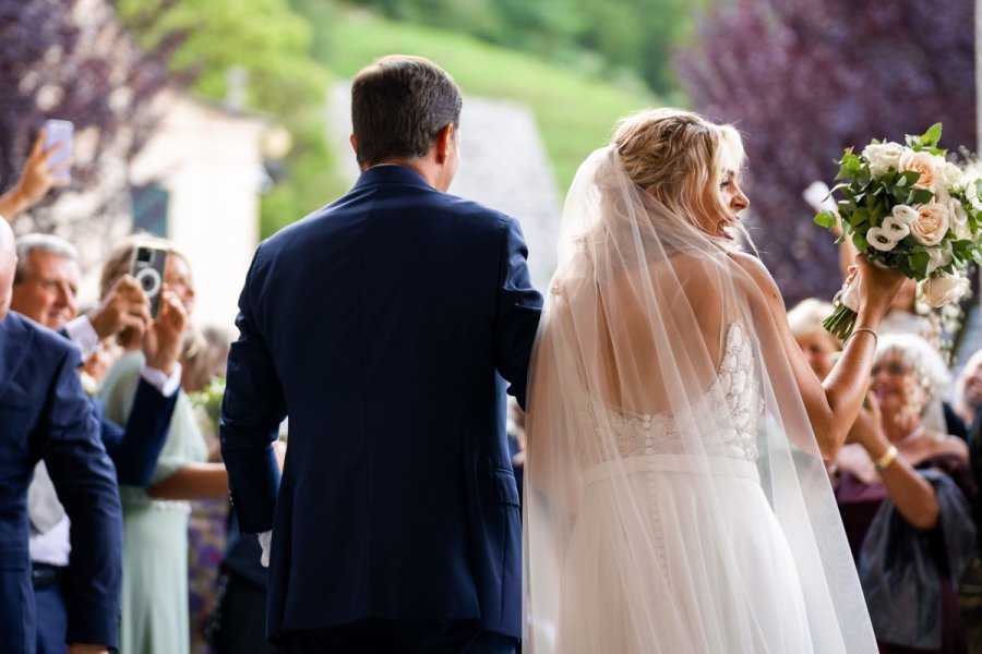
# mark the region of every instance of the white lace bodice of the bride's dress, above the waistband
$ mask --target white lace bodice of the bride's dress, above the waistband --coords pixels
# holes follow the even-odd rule
[[[615,458],[703,453],[695,450],[695,444],[683,438],[679,427],[682,420],[698,431],[705,455],[751,462],[757,459],[757,426],[764,401],[753,346],[746,328],[740,323],[732,323],[727,330],[717,379],[693,402],[685,416],[676,413],[625,415],[598,401],[582,405],[596,436],[583,444],[586,465]],[[612,432],[612,438],[604,437],[606,432]],[[616,449],[609,451],[611,448]]]

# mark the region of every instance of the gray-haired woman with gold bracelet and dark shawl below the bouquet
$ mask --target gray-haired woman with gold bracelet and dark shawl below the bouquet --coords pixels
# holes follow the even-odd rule
[[[966,651],[956,583],[973,553],[975,488],[965,441],[923,420],[948,380],[923,338],[884,336],[870,410],[836,459],[836,499],[881,652]]]

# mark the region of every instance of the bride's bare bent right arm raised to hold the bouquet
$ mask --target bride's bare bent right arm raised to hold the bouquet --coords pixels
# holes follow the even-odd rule
[[[791,334],[785,301],[770,272],[754,256],[738,252],[730,256],[747,272],[756,287],[754,290],[761,293],[766,304],[766,319],[762,320],[764,325],[758,329],[762,347],[780,348],[787,355],[818,449],[825,459],[835,457],[859,415],[870,385],[876,349],[875,332],[900,289],[903,276],[895,270],[876,268],[862,255],[857,256],[859,275],[853,283],[859,284],[861,298],[859,317],[853,336],[846,342],[838,363],[822,382]],[[767,322],[770,323],[769,329]]]

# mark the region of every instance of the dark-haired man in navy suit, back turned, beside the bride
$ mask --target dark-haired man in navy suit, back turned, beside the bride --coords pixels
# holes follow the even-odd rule
[[[229,354],[221,453],[243,531],[272,529],[267,632],[286,652],[514,652],[504,388],[524,403],[542,300],[518,223],[446,194],[450,75],[385,57],[351,96],[361,177],[256,250]]]

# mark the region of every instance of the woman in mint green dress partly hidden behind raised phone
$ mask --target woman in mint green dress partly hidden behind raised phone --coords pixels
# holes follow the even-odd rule
[[[141,239],[145,240],[145,239]],[[165,292],[173,293],[191,314],[194,288],[187,258],[169,243]],[[134,241],[118,247],[106,263],[105,293],[130,270]],[[171,295],[168,295],[172,298]],[[106,415],[125,423],[143,354],[140,338],[123,334],[125,353],[112,365],[99,392]],[[221,463],[208,463],[208,450],[191,403],[180,391],[170,434],[157,459],[149,485],[120,486],[123,507],[123,593],[121,654],[182,654],[189,652],[187,500],[224,497],[228,477]]]

